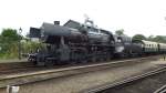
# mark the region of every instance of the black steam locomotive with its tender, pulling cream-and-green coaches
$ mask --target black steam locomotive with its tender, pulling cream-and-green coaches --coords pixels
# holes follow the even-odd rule
[[[29,54],[28,60],[37,65],[108,61],[113,56],[145,53],[145,43],[134,42],[126,35],[113,35],[89,19],[85,23],[69,20],[64,25],[60,25],[59,21],[54,24],[44,22],[41,28],[30,28],[30,37],[45,43],[45,46]]]

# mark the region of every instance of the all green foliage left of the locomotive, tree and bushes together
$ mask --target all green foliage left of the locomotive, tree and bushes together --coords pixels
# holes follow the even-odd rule
[[[38,42],[31,42],[17,33],[13,29],[3,29],[0,34],[0,59],[15,59],[18,58],[18,45],[21,40],[21,53],[34,52],[40,45]],[[22,42],[23,41],[23,42]]]

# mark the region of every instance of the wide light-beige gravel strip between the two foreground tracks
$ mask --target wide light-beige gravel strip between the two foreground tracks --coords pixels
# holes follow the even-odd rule
[[[136,63],[68,78],[30,83],[21,85],[19,93],[77,93],[85,89],[102,85],[107,82],[115,82],[152,69],[156,69],[160,65],[159,63],[164,64],[162,61]],[[0,93],[6,93],[6,89],[1,89]]]

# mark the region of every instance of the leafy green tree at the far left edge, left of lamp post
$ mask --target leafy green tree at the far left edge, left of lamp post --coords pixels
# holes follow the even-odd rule
[[[18,41],[21,37],[17,33],[14,29],[3,29],[0,35],[0,46],[1,52],[0,55],[12,58],[18,54]]]

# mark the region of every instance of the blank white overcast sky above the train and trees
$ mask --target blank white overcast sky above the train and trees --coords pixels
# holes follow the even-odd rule
[[[42,22],[84,22],[84,14],[112,32],[166,35],[166,0],[0,0],[0,29],[21,27],[23,34]]]

